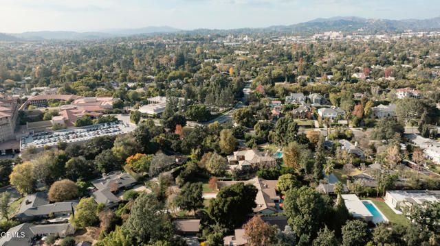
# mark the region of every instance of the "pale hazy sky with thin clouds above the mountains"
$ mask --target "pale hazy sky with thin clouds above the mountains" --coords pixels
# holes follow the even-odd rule
[[[360,16],[428,19],[439,0],[0,0],[0,32],[94,32],[170,26],[234,29]]]

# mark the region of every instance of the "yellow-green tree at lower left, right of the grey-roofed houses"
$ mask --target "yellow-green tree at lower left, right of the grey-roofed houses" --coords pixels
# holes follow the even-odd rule
[[[75,215],[70,217],[70,223],[76,228],[85,228],[99,222],[98,204],[93,197],[83,197],[75,208]]]

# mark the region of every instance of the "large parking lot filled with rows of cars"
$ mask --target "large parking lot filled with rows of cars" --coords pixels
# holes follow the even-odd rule
[[[39,132],[22,136],[20,149],[23,150],[29,145],[34,145],[37,149],[43,148],[45,145],[54,146],[59,141],[66,143],[85,142],[97,136],[126,134],[134,130],[135,127],[133,125],[126,124],[122,121],[115,121],[112,123],[75,127],[59,131]]]

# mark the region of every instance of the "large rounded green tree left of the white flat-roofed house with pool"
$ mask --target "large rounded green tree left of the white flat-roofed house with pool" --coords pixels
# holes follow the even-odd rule
[[[322,227],[322,218],[328,208],[318,191],[303,186],[287,191],[284,210],[289,217],[289,225],[298,235],[306,234],[313,238]]]

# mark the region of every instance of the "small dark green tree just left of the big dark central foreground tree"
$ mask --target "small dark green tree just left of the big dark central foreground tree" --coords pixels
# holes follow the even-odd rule
[[[192,210],[194,214],[198,208],[203,208],[203,197],[201,197],[201,182],[187,182],[176,197],[176,205],[181,209]]]

